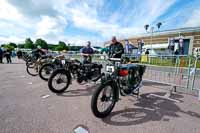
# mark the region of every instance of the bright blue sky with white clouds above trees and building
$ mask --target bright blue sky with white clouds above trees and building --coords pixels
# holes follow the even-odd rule
[[[0,43],[43,38],[93,44],[116,35],[200,26],[200,0],[0,0]]]

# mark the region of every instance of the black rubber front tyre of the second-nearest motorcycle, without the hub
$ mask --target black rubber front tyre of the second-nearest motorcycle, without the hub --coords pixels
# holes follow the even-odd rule
[[[54,78],[58,75],[64,75],[66,77],[66,84],[63,88],[61,89],[57,89],[53,86],[53,82],[54,82]],[[56,80],[56,82],[58,82],[59,79]],[[63,80],[63,79],[60,79],[60,80]],[[70,77],[70,74],[69,72],[67,72],[65,69],[57,69],[55,70],[51,76],[49,77],[49,80],[48,80],[48,87],[49,87],[49,90],[52,91],[53,93],[63,93],[65,92],[65,90],[67,90],[67,88],[69,87],[69,84],[70,84],[70,81],[71,81],[71,77]],[[59,83],[58,83],[59,84]]]

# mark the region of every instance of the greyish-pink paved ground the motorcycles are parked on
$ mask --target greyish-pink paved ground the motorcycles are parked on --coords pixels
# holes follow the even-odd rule
[[[193,95],[174,94],[178,103],[152,95],[165,95],[166,86],[144,83],[139,99],[121,97],[108,118],[97,119],[90,110],[94,86],[74,82],[57,96],[17,62],[0,64],[0,133],[73,133],[77,125],[90,133],[200,133],[200,102]]]

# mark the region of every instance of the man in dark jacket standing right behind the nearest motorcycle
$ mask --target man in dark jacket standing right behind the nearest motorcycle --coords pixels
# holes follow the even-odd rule
[[[123,45],[117,41],[116,37],[112,37],[112,43],[109,46],[108,56],[110,58],[121,58],[124,53]]]

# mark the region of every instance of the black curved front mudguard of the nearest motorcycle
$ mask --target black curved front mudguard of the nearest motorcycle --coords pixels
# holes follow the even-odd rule
[[[107,79],[104,82],[101,82],[102,84],[110,84],[112,86],[112,89],[114,91],[114,99],[117,102],[119,100],[119,87],[117,86],[117,83],[115,83],[112,79]]]

